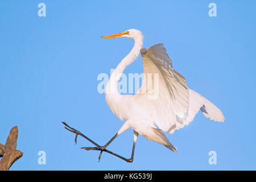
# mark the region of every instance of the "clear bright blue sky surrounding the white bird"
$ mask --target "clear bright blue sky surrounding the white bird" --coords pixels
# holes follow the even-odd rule
[[[46,17],[38,4],[46,4]],[[209,17],[208,5],[217,5]],[[24,152],[12,170],[223,170],[256,169],[255,1],[1,1],[0,143],[18,126]],[[225,115],[218,123],[196,115],[174,135],[178,154],[139,136],[133,163],[65,130],[61,121],[104,145],[122,126],[97,92],[133,40],[101,36],[141,30],[144,47],[163,43],[174,68]],[[141,56],[125,73],[141,73]],[[130,157],[133,131],[109,150]],[[46,152],[46,165],[38,152]],[[209,151],[217,164],[209,165]]]

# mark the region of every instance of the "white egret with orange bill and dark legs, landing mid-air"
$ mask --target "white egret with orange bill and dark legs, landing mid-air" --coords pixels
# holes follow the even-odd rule
[[[166,53],[166,48],[163,47],[163,44],[156,44],[149,49],[142,48],[142,32],[135,29],[103,36],[102,38],[134,39],[133,49],[118,64],[110,76],[105,90],[107,104],[118,118],[125,120],[125,123],[105,146],[97,145],[98,147],[82,148],[86,150],[100,150],[102,154],[102,151],[118,135],[127,129],[133,129],[134,143],[131,158],[126,159],[116,155],[126,162],[133,162],[134,148],[138,135],[163,144],[171,151],[177,152],[177,148],[169,142],[163,131],[173,134],[175,130],[188,125],[199,110],[203,112],[205,117],[213,121],[223,122],[225,120],[218,107],[199,93],[188,88],[185,78],[172,67],[172,61]],[[142,86],[134,96],[119,94],[117,90],[119,78],[127,65],[137,59],[139,52],[141,52],[143,60],[144,77]],[[158,89],[148,86],[148,81],[146,81],[146,75],[148,74],[158,75],[156,77],[158,79],[151,80],[151,86],[156,84]],[[150,98],[150,96],[154,95],[157,97]]]

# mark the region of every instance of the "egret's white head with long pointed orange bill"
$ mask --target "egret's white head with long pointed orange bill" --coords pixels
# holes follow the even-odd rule
[[[143,38],[142,32],[136,29],[129,29],[124,32],[112,35],[102,36],[102,39],[110,39],[110,38]]]

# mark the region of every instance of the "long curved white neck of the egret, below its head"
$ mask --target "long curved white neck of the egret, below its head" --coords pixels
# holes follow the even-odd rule
[[[133,49],[131,49],[130,53],[118,64],[117,68],[115,68],[114,72],[110,76],[108,84],[106,85],[106,102],[111,107],[113,112],[113,104],[117,104],[116,102],[119,101],[122,97],[122,95],[119,94],[117,90],[118,81],[127,65],[133,63],[133,61],[137,59],[142,46],[143,35],[134,38]]]

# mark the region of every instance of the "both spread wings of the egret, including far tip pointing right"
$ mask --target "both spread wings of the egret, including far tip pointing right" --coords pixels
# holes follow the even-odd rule
[[[147,99],[145,107],[153,107],[151,111],[159,129],[172,134],[188,125],[199,110],[213,121],[225,120],[217,106],[188,88],[185,78],[172,67],[163,44],[143,48],[141,55],[144,77],[136,95]]]

